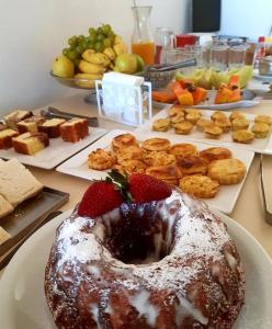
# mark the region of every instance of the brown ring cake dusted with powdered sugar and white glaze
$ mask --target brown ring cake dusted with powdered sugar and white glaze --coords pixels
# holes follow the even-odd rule
[[[48,305],[57,324],[59,318],[64,320],[72,314],[79,291],[87,283],[82,303],[84,309],[89,306],[97,328],[118,328],[111,327],[110,322],[103,327],[103,315],[106,314],[110,321],[116,315],[111,294],[118,292],[137,319],[144,321],[146,327],[143,328],[168,328],[160,322],[162,304],[174,306],[171,328],[231,328],[243,303],[245,276],[226,226],[204,204],[177,191],[158,202],[156,212],[161,218],[158,227],[167,223],[167,228],[163,235],[154,235],[155,257],[158,259],[161,246],[167,246],[169,254],[147,264],[126,264],[104,246],[106,234],[111,234],[111,223],[121,220],[120,209],[95,219],[73,214],[60,225],[45,281]],[[61,282],[68,283],[67,292]],[[166,297],[158,302],[160,292]],[[206,304],[228,308],[228,321],[218,315],[211,318],[215,313],[211,305],[200,307],[199,298],[204,293],[208,296]],[[94,297],[90,297],[91,294]],[[54,296],[59,297],[57,305]],[[89,304],[88,298],[91,299]],[[231,305],[233,300],[236,305]],[[65,328],[76,327],[66,325]]]

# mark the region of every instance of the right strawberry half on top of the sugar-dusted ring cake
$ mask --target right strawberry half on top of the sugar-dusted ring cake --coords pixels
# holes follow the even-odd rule
[[[128,178],[128,192],[135,203],[159,201],[171,195],[171,188],[145,173],[133,173]]]

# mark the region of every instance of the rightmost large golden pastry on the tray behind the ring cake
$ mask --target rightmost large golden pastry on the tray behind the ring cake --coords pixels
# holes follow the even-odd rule
[[[246,166],[238,159],[215,160],[209,163],[207,175],[220,185],[239,183],[246,175]]]

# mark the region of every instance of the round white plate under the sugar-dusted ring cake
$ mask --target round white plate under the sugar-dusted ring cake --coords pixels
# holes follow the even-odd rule
[[[37,230],[15,253],[0,280],[2,329],[56,329],[44,296],[44,271],[57,226],[66,212]],[[272,261],[239,224],[227,224],[246,270],[246,305],[234,329],[272,328]]]

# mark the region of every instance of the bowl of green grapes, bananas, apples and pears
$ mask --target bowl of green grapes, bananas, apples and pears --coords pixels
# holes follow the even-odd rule
[[[90,27],[87,36],[71,36],[63,54],[54,59],[50,76],[67,87],[94,89],[94,81],[101,80],[104,72],[134,75],[143,70],[143,59],[127,52],[111,25],[102,24]]]

